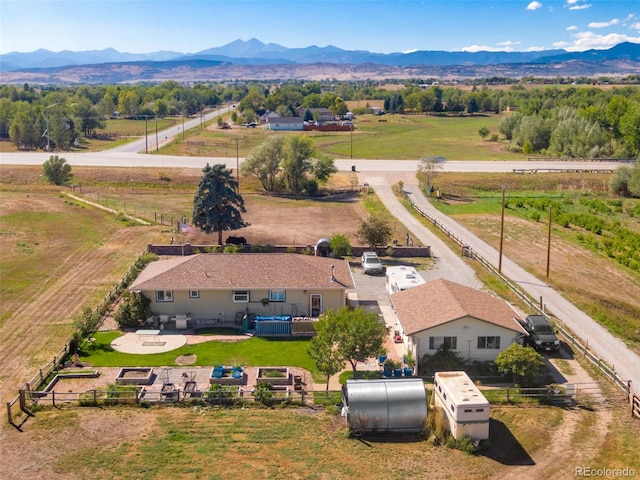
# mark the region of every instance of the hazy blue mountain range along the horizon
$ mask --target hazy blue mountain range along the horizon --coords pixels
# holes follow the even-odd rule
[[[197,53],[135,54],[114,49],[36,50],[0,55],[1,83],[131,83],[230,79],[626,76],[640,73],[640,44],[568,52],[373,53],[334,46],[287,48],[252,38]]]

